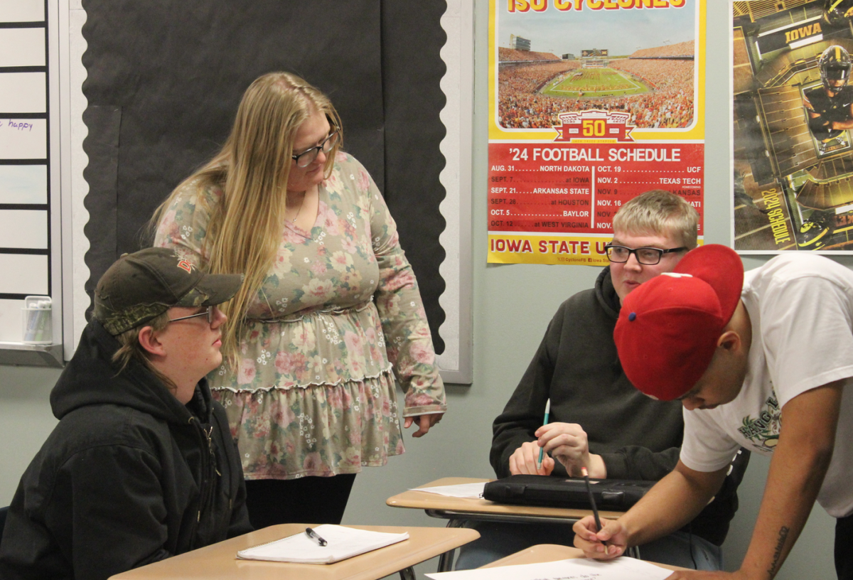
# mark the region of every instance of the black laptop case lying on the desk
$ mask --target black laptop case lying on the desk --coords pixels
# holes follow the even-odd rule
[[[657,482],[630,479],[589,479],[595,506],[624,512]],[[548,475],[510,475],[485,484],[483,497],[491,502],[548,508],[591,509],[586,482],[582,478]]]

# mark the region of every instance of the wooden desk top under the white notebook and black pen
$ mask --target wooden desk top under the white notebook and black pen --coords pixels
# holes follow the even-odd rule
[[[377,580],[444,554],[448,550],[459,548],[479,537],[477,531],[463,528],[350,525],[348,527],[360,530],[397,534],[408,531],[409,539],[334,564],[291,564],[237,559],[238,550],[303,533],[308,525],[316,524],[270,525],[263,530],[252,531],[244,536],[232,537],[168,560],[122,572],[110,580]]]

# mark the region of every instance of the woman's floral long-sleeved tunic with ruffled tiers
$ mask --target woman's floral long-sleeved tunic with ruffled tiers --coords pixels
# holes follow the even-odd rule
[[[155,246],[206,267],[222,189],[188,183]],[[427,316],[373,179],[339,153],[310,231],[285,223],[275,264],[247,314],[239,368],[208,375],[247,479],[357,473],[403,453],[403,416],[446,410]]]

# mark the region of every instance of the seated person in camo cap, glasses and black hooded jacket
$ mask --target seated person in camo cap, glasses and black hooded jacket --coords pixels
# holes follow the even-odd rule
[[[164,248],[125,254],[50,394],[60,420],[20,480],[0,577],[107,578],[252,530],[224,409],[217,308],[240,275]]]

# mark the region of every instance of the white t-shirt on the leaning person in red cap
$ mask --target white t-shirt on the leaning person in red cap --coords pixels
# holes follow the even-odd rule
[[[739,447],[773,453],[788,401],[853,377],[853,271],[820,256],[786,254],[746,272],[740,299],[752,324],[740,394],[717,409],[684,411],[681,459],[696,471],[722,469]],[[836,518],[853,513],[851,448],[853,392],[844,388],[833,460],[817,496]]]

